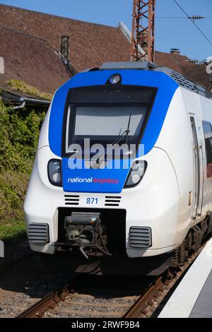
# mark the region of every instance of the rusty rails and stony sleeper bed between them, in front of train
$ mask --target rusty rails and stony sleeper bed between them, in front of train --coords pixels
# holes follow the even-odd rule
[[[93,278],[93,277],[92,277]],[[98,278],[89,277],[87,287],[78,287],[81,277],[70,280],[58,290],[49,293],[32,307],[19,314],[16,318],[45,317],[93,317],[93,318],[136,318],[141,316],[146,305],[153,300],[158,290],[163,288],[163,277],[144,278],[139,285],[129,287],[121,281],[119,285],[109,278],[106,282],[96,285]],[[83,284],[85,285],[85,284]],[[123,288],[125,286],[125,288]],[[115,287],[115,288],[114,288]]]

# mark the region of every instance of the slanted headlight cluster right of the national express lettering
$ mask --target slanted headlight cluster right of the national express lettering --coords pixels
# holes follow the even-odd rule
[[[146,172],[147,162],[145,160],[136,160],[131,166],[129,175],[124,184],[124,188],[136,186],[141,181],[143,174]]]

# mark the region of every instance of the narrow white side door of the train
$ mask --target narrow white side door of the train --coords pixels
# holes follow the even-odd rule
[[[198,119],[190,117],[192,125],[193,154],[194,154],[194,193],[193,193],[193,219],[201,216],[204,189],[204,151],[200,140],[202,134]]]

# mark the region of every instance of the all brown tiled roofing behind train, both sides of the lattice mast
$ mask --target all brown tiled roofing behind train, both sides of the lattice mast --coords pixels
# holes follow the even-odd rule
[[[119,27],[1,4],[0,17],[0,57],[4,57],[6,69],[13,75],[20,75],[21,81],[45,92],[53,92],[69,78],[64,64],[54,52],[60,49],[61,35],[70,37],[69,59],[76,71],[99,67],[105,61],[129,61],[130,43]],[[163,52],[156,52],[155,62],[208,88],[204,65],[190,64],[187,57]]]

